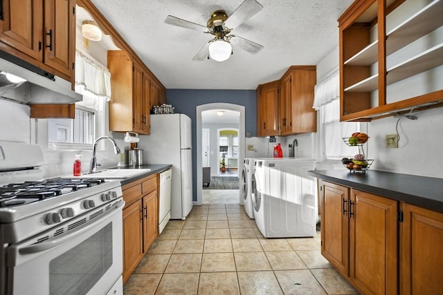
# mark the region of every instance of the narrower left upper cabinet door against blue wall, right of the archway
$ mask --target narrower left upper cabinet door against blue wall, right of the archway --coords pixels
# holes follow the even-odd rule
[[[257,91],[257,134],[259,136],[279,135],[278,104],[280,82],[260,85]]]

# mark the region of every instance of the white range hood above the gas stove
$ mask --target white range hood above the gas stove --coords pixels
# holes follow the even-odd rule
[[[15,82],[6,77],[8,73],[26,81]],[[27,104],[72,104],[82,100],[82,95],[72,91],[71,82],[3,51],[0,51],[0,96]]]

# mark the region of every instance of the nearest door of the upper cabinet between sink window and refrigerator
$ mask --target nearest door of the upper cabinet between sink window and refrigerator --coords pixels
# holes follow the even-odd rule
[[[135,132],[143,133],[143,70],[134,63],[134,97],[133,104],[134,120],[133,128]]]

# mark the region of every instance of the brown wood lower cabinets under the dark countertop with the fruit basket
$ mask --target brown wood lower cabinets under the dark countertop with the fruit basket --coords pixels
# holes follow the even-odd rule
[[[359,292],[441,292],[442,213],[332,182],[320,187],[321,254]]]

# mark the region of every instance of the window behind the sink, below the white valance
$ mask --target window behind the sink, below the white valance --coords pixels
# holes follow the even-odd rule
[[[76,106],[75,119],[49,119],[48,142],[92,144],[95,131],[95,112]]]

